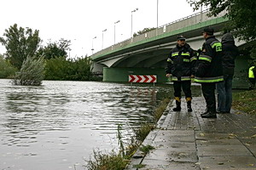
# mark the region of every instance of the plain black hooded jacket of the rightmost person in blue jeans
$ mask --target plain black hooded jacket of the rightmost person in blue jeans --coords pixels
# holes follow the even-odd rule
[[[230,33],[224,34],[222,43],[222,65],[224,75],[234,75],[235,59],[239,55],[238,48],[235,45],[234,38]]]

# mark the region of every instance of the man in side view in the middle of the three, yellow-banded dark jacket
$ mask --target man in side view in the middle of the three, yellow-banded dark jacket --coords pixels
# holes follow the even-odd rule
[[[201,83],[201,91],[207,103],[207,111],[201,114],[202,118],[217,118],[214,91],[216,82],[224,81],[221,61],[222,45],[213,36],[213,32],[211,27],[203,30],[206,42],[202,45],[195,71],[195,82]]]

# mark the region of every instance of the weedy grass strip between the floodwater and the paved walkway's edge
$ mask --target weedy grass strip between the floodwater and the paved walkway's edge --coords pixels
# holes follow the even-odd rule
[[[166,110],[170,99],[163,99],[160,102],[160,105],[154,110],[154,122],[157,122],[160,119],[160,116]],[[93,151],[93,157],[90,158],[90,161],[87,161],[88,170],[122,170],[127,167],[129,160],[135,154],[139,146],[143,143],[143,140],[148,136],[151,130],[154,129],[154,124],[146,123],[143,124],[138,129],[133,129],[135,133],[135,139],[132,137],[130,144],[125,144],[122,140],[121,134],[121,125],[118,126],[117,138],[119,139],[119,152],[112,150],[110,153],[102,153],[101,151]],[[147,154],[149,150],[154,150],[153,146],[146,145],[142,146],[140,150],[144,154]],[[137,165],[137,168],[145,167],[145,165]]]

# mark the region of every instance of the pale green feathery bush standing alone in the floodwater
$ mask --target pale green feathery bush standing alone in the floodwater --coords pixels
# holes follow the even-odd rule
[[[39,86],[44,80],[44,57],[28,57],[23,62],[20,72],[13,79],[15,85]]]

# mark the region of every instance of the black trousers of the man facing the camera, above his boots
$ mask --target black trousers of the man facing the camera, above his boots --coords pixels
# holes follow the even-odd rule
[[[191,98],[191,82],[190,81],[174,81],[173,82],[174,88],[174,96],[181,98],[181,91],[183,88],[183,93],[185,94],[186,98]]]

